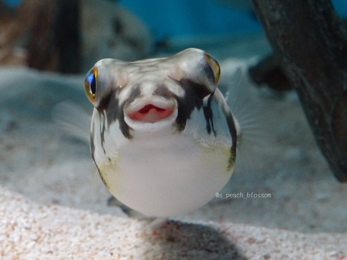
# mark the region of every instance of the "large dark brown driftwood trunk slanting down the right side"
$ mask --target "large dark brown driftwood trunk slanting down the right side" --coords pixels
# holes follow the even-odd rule
[[[347,35],[329,0],[252,0],[317,144],[347,181]]]

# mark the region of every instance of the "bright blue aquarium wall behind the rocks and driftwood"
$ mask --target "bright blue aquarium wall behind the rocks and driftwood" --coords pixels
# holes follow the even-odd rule
[[[246,1],[246,0],[245,0]],[[5,0],[17,6],[21,0]],[[234,1],[214,0],[119,0],[115,1],[137,15],[156,39],[180,36],[249,34],[261,26],[252,10],[235,8]],[[220,2],[230,2],[230,5]],[[237,1],[235,1],[237,2]],[[332,1],[338,14],[347,17],[347,1]]]

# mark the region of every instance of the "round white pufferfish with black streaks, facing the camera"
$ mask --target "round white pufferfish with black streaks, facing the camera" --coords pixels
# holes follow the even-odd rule
[[[92,158],[120,202],[170,217],[200,208],[225,186],[239,127],[219,78],[218,62],[193,48],[169,58],[102,59],[87,73]]]

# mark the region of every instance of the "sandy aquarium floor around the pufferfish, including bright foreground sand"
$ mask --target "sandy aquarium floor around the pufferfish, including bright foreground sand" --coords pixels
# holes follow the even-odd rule
[[[262,37],[194,47],[220,61],[221,88],[233,82],[232,66],[269,51]],[[110,194],[88,145],[51,120],[53,106],[67,99],[91,113],[83,77],[12,68],[0,69],[0,78],[1,259],[347,257],[347,185],[329,170],[295,93],[252,92],[261,145],[240,151],[220,192],[244,198],[215,198],[153,232],[144,230],[147,220],[106,205]]]

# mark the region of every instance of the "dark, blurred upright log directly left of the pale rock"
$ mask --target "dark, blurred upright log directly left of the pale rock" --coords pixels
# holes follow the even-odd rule
[[[32,17],[25,14],[28,9]],[[78,0],[24,1],[19,17],[32,24],[27,58],[29,67],[62,73],[80,72]]]

